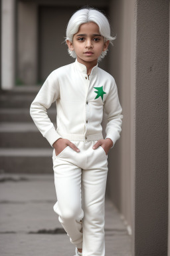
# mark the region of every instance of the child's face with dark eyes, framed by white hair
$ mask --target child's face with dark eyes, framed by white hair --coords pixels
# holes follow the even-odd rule
[[[104,43],[104,37],[100,35],[98,25],[90,21],[80,25],[72,43],[67,41],[67,45],[71,51],[76,52],[80,63],[96,65],[102,51],[108,49],[109,41]]]

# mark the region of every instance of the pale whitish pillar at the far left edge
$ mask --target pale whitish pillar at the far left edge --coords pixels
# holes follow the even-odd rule
[[[15,86],[15,0],[1,2],[1,88]]]

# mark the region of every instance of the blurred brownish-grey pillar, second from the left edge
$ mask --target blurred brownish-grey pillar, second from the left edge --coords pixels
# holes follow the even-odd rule
[[[18,71],[17,79],[25,85],[37,83],[38,19],[37,4],[18,3]]]

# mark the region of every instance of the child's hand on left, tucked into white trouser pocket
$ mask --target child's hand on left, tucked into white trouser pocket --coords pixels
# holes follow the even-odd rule
[[[52,147],[54,147],[55,149],[55,153],[56,155],[59,155],[61,153],[62,150],[64,150],[65,147],[71,147],[74,151],[79,152],[80,150],[78,149],[78,147],[76,147],[76,145],[74,145],[74,143],[72,143],[71,141],[69,141],[69,139],[62,139],[59,138],[57,139],[53,144]]]

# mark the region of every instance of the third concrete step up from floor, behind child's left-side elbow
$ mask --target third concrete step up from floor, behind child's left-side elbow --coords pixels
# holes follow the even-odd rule
[[[56,122],[56,107],[47,109],[47,114],[52,123]],[[29,108],[0,109],[1,122],[33,122]]]

